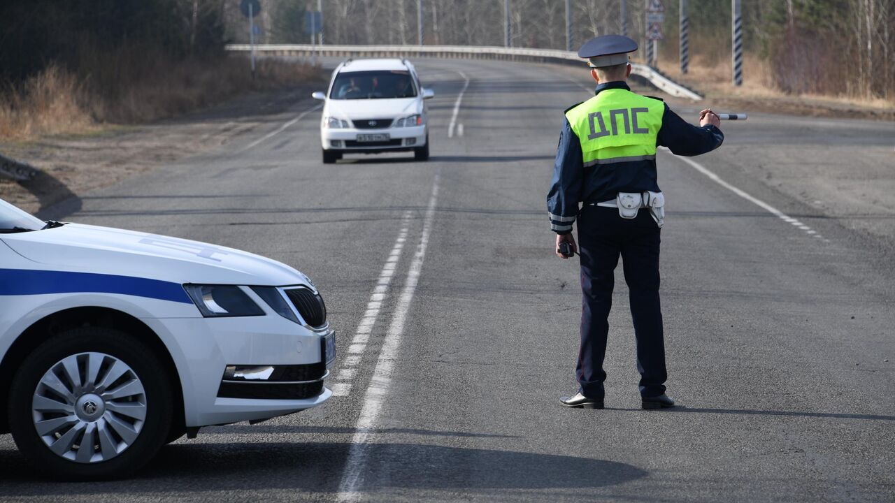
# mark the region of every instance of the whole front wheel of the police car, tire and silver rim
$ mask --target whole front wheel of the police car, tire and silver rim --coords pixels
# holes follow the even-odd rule
[[[24,359],[7,410],[16,445],[41,473],[89,481],[124,477],[155,456],[172,400],[165,367],[139,338],[83,327]]]

